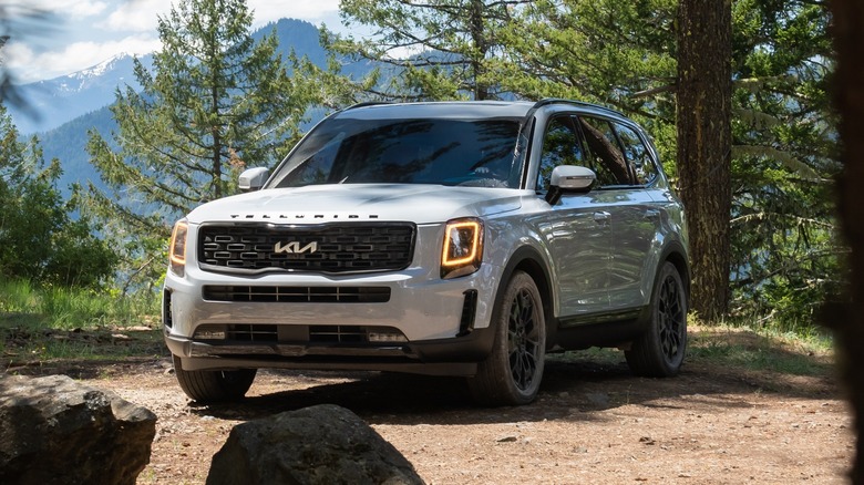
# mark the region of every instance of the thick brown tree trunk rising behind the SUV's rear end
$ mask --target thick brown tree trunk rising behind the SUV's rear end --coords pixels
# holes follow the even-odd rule
[[[690,236],[691,307],[708,320],[729,303],[731,19],[731,0],[680,0],[678,175]]]

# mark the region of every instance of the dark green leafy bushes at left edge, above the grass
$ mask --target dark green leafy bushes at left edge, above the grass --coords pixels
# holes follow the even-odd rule
[[[56,187],[60,163],[45,166],[39,141],[18,138],[0,106],[0,272],[44,286],[100,288],[116,255],[93,236],[86,217],[71,216],[78,206]]]

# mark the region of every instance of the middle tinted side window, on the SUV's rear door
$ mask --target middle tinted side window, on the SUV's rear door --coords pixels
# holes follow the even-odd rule
[[[597,174],[600,186],[636,184],[635,174],[621,153],[611,124],[606,120],[583,115],[579,116],[579,126],[588,145],[589,166]]]

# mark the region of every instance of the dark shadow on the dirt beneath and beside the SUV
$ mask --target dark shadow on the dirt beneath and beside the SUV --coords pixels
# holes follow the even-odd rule
[[[770,376],[722,373],[699,364],[686,365],[678,376],[634,376],[627,364],[547,359],[537,400],[524,406],[482,407],[472,402],[463,379],[385,372],[264,371],[250,395],[226,404],[191,403],[191,411],[218,419],[255,420],[317,404],[337,404],[371,424],[473,424],[543,420],[590,421],[598,411],[626,406],[683,407],[700,401],[710,405],[749,406],[741,395],[784,392],[790,396],[832,393],[833,385],[768,389]],[[305,389],[278,391],[279,382],[306,380]],[[316,384],[316,382],[320,382]],[[256,392],[256,385],[266,391]],[[276,389],[275,392],[271,392]]]

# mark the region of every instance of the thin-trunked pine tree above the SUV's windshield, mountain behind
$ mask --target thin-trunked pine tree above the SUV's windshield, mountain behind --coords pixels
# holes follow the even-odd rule
[[[367,40],[327,35],[328,45],[392,69],[389,83],[373,91],[383,97],[443,100],[498,96],[488,63],[500,53],[502,29],[528,0],[343,0],[347,27],[371,28]],[[380,72],[376,72],[380,74]],[[367,83],[369,84],[369,83]]]

